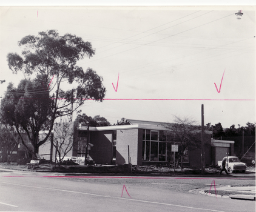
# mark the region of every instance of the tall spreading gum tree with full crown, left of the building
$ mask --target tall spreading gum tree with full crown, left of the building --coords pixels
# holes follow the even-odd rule
[[[76,65],[84,57],[95,54],[90,42],[76,35],[60,36],[56,30],[42,31],[38,36],[25,36],[18,45],[22,56],[8,53],[8,67],[13,73],[21,71],[25,79],[17,88],[8,85],[1,101],[1,117],[6,124],[24,130],[34,147],[33,152],[38,153],[39,146],[50,136],[56,118],[72,114],[86,99],[103,101],[106,88],[96,71],[92,68],[84,71]],[[67,84],[76,87],[63,90]],[[39,131],[45,128],[49,133],[38,141]]]

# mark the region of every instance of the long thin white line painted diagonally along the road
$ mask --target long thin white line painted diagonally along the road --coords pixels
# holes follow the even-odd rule
[[[9,185],[19,185],[22,187],[29,187],[29,188],[41,188],[41,189],[54,190],[54,191],[62,191],[62,192],[64,191],[64,192],[69,192],[69,193],[86,194],[86,195],[90,195],[90,196],[106,197],[106,198],[112,198],[112,199],[123,199],[123,200],[135,201],[135,202],[146,202],[146,203],[158,204],[158,205],[169,205],[169,206],[174,206],[174,207],[190,208],[190,209],[197,209],[197,210],[204,210],[204,211],[225,212],[225,211],[218,211],[218,210],[212,210],[212,209],[206,209],[206,208],[195,208],[195,207],[189,207],[189,206],[184,206],[184,205],[168,204],[168,203],[163,203],[163,202],[151,202],[151,201],[140,200],[140,199],[127,199],[127,198],[123,198],[123,197],[114,197],[114,196],[106,196],[106,195],[100,195],[100,194],[84,193],[84,192],[79,192],[79,191],[62,190],[62,189],[58,189],[58,188],[35,187],[35,186],[31,186],[31,185],[12,184],[10,182],[0,182],[0,183],[9,184]]]

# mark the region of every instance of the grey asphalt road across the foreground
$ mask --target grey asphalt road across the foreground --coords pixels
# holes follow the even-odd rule
[[[79,177],[0,173],[0,211],[255,211],[255,202],[188,191],[216,185],[255,185],[255,178]]]

